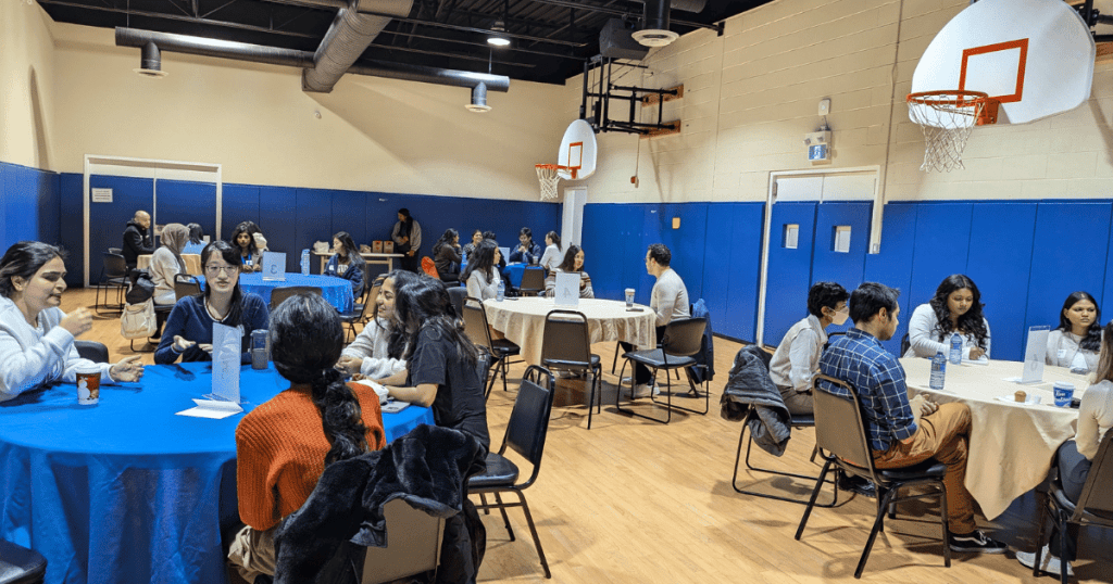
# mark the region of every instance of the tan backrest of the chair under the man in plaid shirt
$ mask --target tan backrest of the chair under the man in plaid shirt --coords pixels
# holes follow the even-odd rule
[[[841,387],[849,395],[835,395],[820,382]],[[868,468],[876,481],[874,456],[854,388],[841,379],[826,375],[816,375],[814,384],[811,399],[816,416],[816,446],[855,466]]]

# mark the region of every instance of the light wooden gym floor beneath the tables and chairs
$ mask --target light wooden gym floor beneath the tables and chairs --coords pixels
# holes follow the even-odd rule
[[[63,296],[62,309],[91,307],[92,301],[92,290],[72,289]],[[108,345],[114,362],[131,355],[128,342],[119,336],[118,317],[96,318],[93,329],[81,338]],[[583,405],[553,408],[541,474],[536,484],[525,491],[552,582],[855,582],[854,570],[876,508],[873,499],[840,494],[840,501],[848,501],[834,509],[817,508],[802,540],[797,542],[794,534],[802,505],[740,495],[731,488],[741,425],[719,416],[718,400],[739,347],[738,343],[716,339],[717,375],[711,383],[711,410],[707,416],[673,413],[668,426],[621,416],[614,413],[613,390],[604,394],[603,412],[594,416],[591,430],[587,429]],[[593,349],[604,364],[604,384],[613,386],[618,383],[610,374],[614,345],[599,344]],[[150,353],[144,356],[145,363],[154,363]],[[487,403],[492,448],[502,443],[516,378],[524,369],[521,363],[511,366],[510,390],[503,392],[501,382],[496,383]],[[578,385],[582,382],[560,379],[558,399],[571,396],[573,403],[585,402]],[[562,390],[568,394],[562,395]],[[696,405],[691,398],[678,402]],[[814,444],[810,432],[794,430],[781,458],[759,449],[755,456],[766,466],[818,474],[818,467],[808,462]],[[529,464],[520,463],[528,473]],[[799,497],[805,497],[812,486],[746,472],[739,477],[742,484],[752,481],[757,481],[758,489]],[[821,499],[825,496],[829,496],[829,488]],[[1030,493],[996,521],[979,517],[978,524],[1014,548],[1031,551],[1035,501]],[[509,541],[498,512],[484,515],[487,547],[479,580],[545,582],[521,509],[508,513],[514,542]],[[902,504],[898,518],[887,521],[885,533],[878,536],[863,581],[1056,581],[1047,576],[1034,578],[1012,553],[954,554],[952,567],[944,567],[937,521],[938,507],[934,503]],[[1113,581],[1113,534],[1083,531],[1080,557],[1084,560],[1075,564],[1072,582]]]

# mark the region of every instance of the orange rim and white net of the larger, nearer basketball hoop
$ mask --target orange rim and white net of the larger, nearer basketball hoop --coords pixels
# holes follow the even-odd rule
[[[963,166],[963,149],[974,126],[997,121],[997,100],[982,91],[947,89],[908,93],[908,117],[924,130],[920,170],[943,172]]]

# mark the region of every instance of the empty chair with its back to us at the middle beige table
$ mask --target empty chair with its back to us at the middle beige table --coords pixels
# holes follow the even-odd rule
[[[541,365],[550,370],[567,370],[591,375],[591,397],[588,399],[588,429],[591,429],[591,408],[599,392],[599,409],[603,407],[602,373],[599,355],[591,353],[588,317],[575,310],[550,310],[545,315],[544,343],[541,346]]]

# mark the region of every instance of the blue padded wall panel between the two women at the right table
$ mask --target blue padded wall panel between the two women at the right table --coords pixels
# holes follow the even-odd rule
[[[1028,300],[1024,284],[1032,267],[1035,219],[1035,202],[974,205],[965,274],[982,293],[995,359],[1024,359]]]

